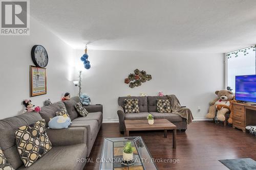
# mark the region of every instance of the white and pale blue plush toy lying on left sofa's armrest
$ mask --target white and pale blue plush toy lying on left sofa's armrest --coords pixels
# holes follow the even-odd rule
[[[67,114],[63,114],[62,116],[55,116],[53,118],[50,118],[48,126],[51,129],[63,129],[68,128],[70,124],[71,119],[68,117]]]

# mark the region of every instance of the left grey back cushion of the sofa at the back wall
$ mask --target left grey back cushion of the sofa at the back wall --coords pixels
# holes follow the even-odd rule
[[[125,99],[138,99],[139,100],[139,111],[147,112],[147,97],[146,96],[125,96],[118,98],[118,105],[124,108],[124,100]]]

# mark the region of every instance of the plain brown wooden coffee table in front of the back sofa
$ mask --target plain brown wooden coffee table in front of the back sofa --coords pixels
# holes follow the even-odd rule
[[[167,119],[155,119],[154,125],[149,125],[147,120],[124,120],[124,124],[126,136],[129,136],[129,131],[164,130],[164,137],[167,137],[167,130],[173,130],[173,149],[176,149],[177,127]]]

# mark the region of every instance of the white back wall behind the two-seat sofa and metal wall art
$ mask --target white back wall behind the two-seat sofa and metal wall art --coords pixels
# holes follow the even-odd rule
[[[83,68],[76,50],[75,65],[82,72],[82,92],[91,96],[93,104],[103,104],[103,119],[118,119],[118,96],[176,94],[195,118],[202,118],[215,90],[224,88],[224,54],[155,53],[88,50],[91,69]],[[143,69],[152,80],[130,88],[124,83],[134,69]],[[201,111],[198,112],[198,106]]]

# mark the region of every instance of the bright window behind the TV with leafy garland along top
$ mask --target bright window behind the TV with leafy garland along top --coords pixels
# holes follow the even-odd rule
[[[256,74],[255,46],[243,48],[238,51],[226,53],[227,86],[235,89],[236,76]]]

